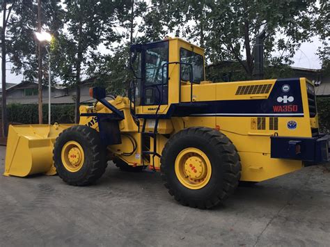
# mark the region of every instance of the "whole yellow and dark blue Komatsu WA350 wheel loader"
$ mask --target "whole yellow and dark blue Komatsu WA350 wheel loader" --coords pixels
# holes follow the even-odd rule
[[[305,78],[205,80],[200,47],[180,38],[132,45],[128,97],[91,88],[79,125],[9,127],[4,175],[58,174],[71,185],[99,179],[112,160],[159,170],[182,205],[211,208],[239,181],[260,182],[329,161],[315,90]]]

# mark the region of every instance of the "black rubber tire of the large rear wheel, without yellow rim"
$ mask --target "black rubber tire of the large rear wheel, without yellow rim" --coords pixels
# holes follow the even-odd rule
[[[210,181],[201,189],[189,189],[175,175],[175,159],[185,148],[198,148],[210,159]],[[191,127],[173,135],[161,158],[161,174],[168,193],[184,206],[209,209],[228,198],[237,188],[242,166],[227,136],[206,127]]]

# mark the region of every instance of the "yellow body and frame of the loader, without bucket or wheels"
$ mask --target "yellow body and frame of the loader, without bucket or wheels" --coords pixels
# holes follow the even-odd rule
[[[201,56],[204,56],[204,50],[200,47],[191,45],[190,43],[181,40],[180,38],[169,39],[169,56],[168,62],[180,61],[179,50],[180,48],[194,51]],[[190,102],[191,85],[189,82],[181,82],[180,80],[180,65],[168,65],[168,104],[159,107],[158,114],[166,114],[171,104],[179,102],[179,92],[181,102]],[[199,84],[193,84],[193,102],[217,101],[217,100],[256,100],[267,99],[272,92],[272,88],[276,83],[276,79],[260,80],[260,81],[235,81],[227,83],[212,83],[211,81],[201,81]],[[250,93],[246,95],[236,95],[237,87],[239,86],[262,86],[269,85],[268,93]],[[159,120],[157,127],[157,152],[162,153],[164,145],[168,141],[167,135],[172,135],[179,132],[181,129],[187,127],[210,127],[217,129],[223,134],[226,134],[236,146],[242,162],[242,181],[260,182],[268,180],[272,177],[277,177],[294,170],[298,170],[303,166],[303,162],[299,160],[290,159],[272,159],[270,157],[270,137],[271,136],[297,136],[297,137],[312,137],[311,129],[317,128],[317,115],[309,117],[307,88],[309,84],[313,86],[311,81],[305,78],[299,79],[301,88],[302,105],[304,106],[304,117],[281,117],[278,118],[278,129],[269,129],[270,119],[272,117],[265,117],[265,129],[257,128],[258,116],[186,116],[186,117],[173,117],[171,119]],[[179,87],[181,89],[179,90]],[[127,132],[132,134],[137,140],[141,139],[141,134],[136,133],[137,127],[134,126],[132,116],[129,113],[129,100],[123,97],[117,97],[113,104],[118,109],[124,109],[125,119],[120,121],[120,132]],[[100,111],[97,104],[96,109]],[[136,106],[136,114],[153,115],[157,111],[158,105],[150,106]],[[81,112],[85,112],[87,108],[81,106]],[[103,106],[103,109],[104,106]],[[102,111],[102,110],[101,110]],[[107,111],[107,110],[106,110]],[[297,122],[297,129],[294,131],[286,127],[286,123],[294,120]],[[89,122],[90,118],[81,118],[80,124],[84,125]],[[143,121],[140,120],[140,128],[142,128]],[[146,132],[154,130],[155,120],[149,119],[146,123]],[[152,150],[152,138],[150,138],[150,150]],[[139,146],[139,145],[138,145]],[[127,152],[131,149],[129,140],[123,136],[123,143],[109,147],[111,152],[115,153],[125,162],[132,166],[142,166],[143,160],[141,156],[141,149],[136,150],[130,157],[120,156],[120,152]],[[150,154],[151,155],[151,154]],[[152,160],[155,162],[153,163]],[[155,167],[156,170],[160,168],[160,159],[155,157],[150,159],[150,162],[145,161],[145,165],[150,168]]]

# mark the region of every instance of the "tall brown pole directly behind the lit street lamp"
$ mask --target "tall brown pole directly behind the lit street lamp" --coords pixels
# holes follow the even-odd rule
[[[38,32],[41,32],[41,0],[38,0]],[[41,44],[38,42],[38,113],[39,124],[42,124],[42,56]]]

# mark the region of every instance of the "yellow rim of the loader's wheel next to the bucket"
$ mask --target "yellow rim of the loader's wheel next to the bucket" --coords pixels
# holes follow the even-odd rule
[[[61,159],[65,169],[75,173],[80,170],[84,164],[84,150],[77,141],[68,141],[68,143],[63,145]]]

